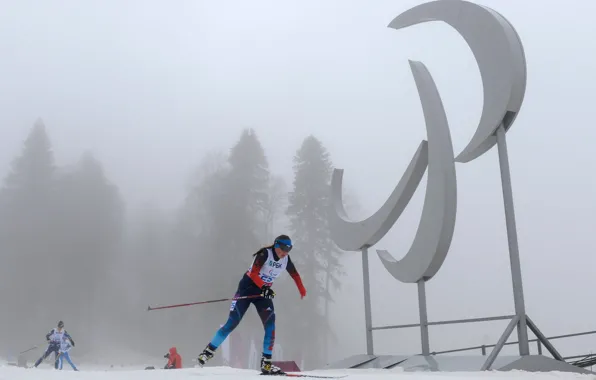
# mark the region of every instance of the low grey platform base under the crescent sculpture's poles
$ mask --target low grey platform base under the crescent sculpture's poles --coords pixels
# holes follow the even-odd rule
[[[450,355],[354,355],[335,363],[325,369],[366,369],[384,368],[398,372],[474,372],[481,371],[486,356],[450,356]],[[528,372],[574,372],[594,374],[585,368],[567,362],[555,360],[543,355],[506,356],[495,359],[490,370],[493,371],[528,371]]]

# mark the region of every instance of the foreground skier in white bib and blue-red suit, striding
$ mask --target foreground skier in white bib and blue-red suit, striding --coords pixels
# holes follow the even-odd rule
[[[306,289],[302,284],[302,279],[289,256],[291,249],[292,241],[290,238],[287,235],[280,235],[275,239],[273,245],[263,247],[253,254],[253,263],[238,283],[238,290],[234,298],[258,295],[261,297],[232,301],[227,322],[215,333],[211,342],[197,358],[201,367],[213,357],[217,348],[238,326],[244,313],[246,313],[246,310],[252,303],[255,305],[265,328],[261,373],[263,375],[283,374],[283,371],[279,367],[271,363],[271,355],[275,343],[275,310],[272,301],[273,297],[275,297],[275,292],[271,289],[271,285],[273,285],[275,279],[284,270],[287,270],[298,287],[300,297],[304,298],[306,295]]]

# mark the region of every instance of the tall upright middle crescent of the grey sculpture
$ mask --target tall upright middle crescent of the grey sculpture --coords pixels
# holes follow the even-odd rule
[[[457,211],[457,183],[453,144],[441,96],[421,62],[410,61],[410,67],[428,133],[428,180],[422,217],[414,242],[403,259],[397,261],[387,251],[377,251],[389,273],[405,283],[429,280],[447,257]]]

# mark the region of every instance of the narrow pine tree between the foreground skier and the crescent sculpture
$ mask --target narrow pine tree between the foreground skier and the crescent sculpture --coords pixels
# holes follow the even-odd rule
[[[332,301],[331,288],[339,287],[339,276],[343,273],[327,219],[331,174],[329,153],[314,136],[307,137],[294,157],[294,189],[288,197],[287,215],[295,246],[291,257],[308,294],[302,301],[291,301],[287,307],[295,311],[286,313],[293,316],[286,321],[292,326],[291,330],[286,327],[294,335],[291,341],[308,342],[308,349],[295,347],[294,350],[304,353],[306,367],[324,365],[327,359],[323,350],[331,324],[325,315],[325,305]]]

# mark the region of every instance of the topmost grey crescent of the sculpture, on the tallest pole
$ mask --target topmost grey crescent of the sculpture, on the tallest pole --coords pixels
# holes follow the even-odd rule
[[[429,21],[443,21],[467,42],[478,63],[484,105],[478,128],[456,157],[470,162],[492,148],[495,131],[509,130],[526,92],[526,58],[515,28],[498,12],[463,0],[437,0],[418,5],[397,16],[389,27],[402,29]]]

